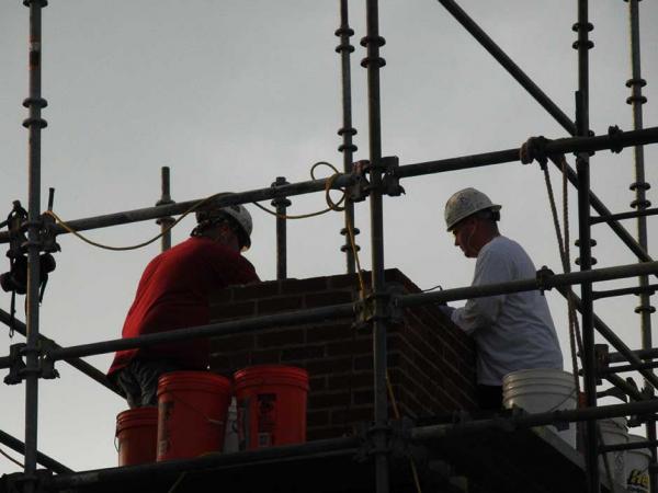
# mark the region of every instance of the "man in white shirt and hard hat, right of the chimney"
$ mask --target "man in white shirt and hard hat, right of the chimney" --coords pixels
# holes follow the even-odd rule
[[[455,245],[477,259],[473,286],[535,277],[521,245],[500,234],[500,206],[475,188],[455,193],[445,205],[445,225]],[[563,368],[548,303],[540,291],[488,296],[463,308],[444,307],[451,320],[475,341],[480,409],[502,408],[502,377],[526,368]]]

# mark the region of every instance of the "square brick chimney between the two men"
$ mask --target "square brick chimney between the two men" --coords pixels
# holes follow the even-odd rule
[[[364,274],[370,283],[370,273]],[[398,270],[387,285],[420,289]],[[227,321],[359,299],[359,279],[344,274],[231,287],[211,297],[211,320]],[[475,353],[470,339],[435,306],[406,309],[388,331],[388,375],[404,416],[421,419],[475,408]],[[308,439],[350,433],[373,419],[372,334],[354,320],[279,326],[215,337],[211,369],[222,374],[250,365],[284,364],[309,374]],[[389,415],[394,413],[390,410]]]

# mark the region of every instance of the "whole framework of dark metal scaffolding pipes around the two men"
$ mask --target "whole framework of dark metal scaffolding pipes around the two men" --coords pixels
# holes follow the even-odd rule
[[[370,455],[374,458],[374,474],[377,493],[387,493],[390,488],[389,455],[392,423],[388,416],[388,395],[386,387],[386,334],[390,323],[394,308],[406,308],[423,303],[446,302],[468,298],[485,297],[495,294],[519,293],[524,290],[558,289],[566,298],[571,298],[581,313],[581,329],[583,334],[583,352],[580,355],[582,362],[582,378],[585,382],[586,405],[576,411],[558,411],[544,414],[532,414],[507,417],[507,423],[512,428],[526,428],[530,426],[556,423],[556,422],[585,422],[583,455],[586,459],[587,484],[590,492],[601,491],[599,475],[598,456],[601,451],[613,450],[614,447],[601,447],[597,440],[597,420],[611,416],[639,416],[646,423],[647,440],[633,444],[633,447],[649,447],[653,455],[651,460],[651,492],[658,492],[658,465],[656,438],[656,412],[658,400],[655,399],[655,389],[658,388],[658,378],[653,372],[656,366],[654,358],[658,349],[653,347],[650,313],[655,309],[650,306],[650,295],[656,290],[656,285],[649,284],[649,276],[658,275],[658,262],[648,254],[647,244],[647,216],[657,214],[656,209],[649,208],[646,199],[646,190],[649,187],[645,179],[643,146],[658,142],[658,127],[643,127],[642,105],[646,98],[642,94],[642,88],[646,81],[642,78],[639,60],[639,0],[627,0],[631,25],[631,51],[632,51],[632,78],[627,87],[632,90],[628,104],[633,106],[633,129],[621,131],[611,127],[608,135],[594,136],[589,125],[589,49],[593,46],[589,39],[589,33],[593,28],[589,16],[588,0],[577,0],[578,19],[574,24],[577,41],[574,48],[578,51],[578,90],[576,91],[576,117],[571,121],[551,99],[517,66],[503,50],[473,21],[453,0],[439,0],[440,3],[480,43],[508,72],[564,127],[569,137],[548,141],[542,148],[543,157],[553,157],[564,153],[576,154],[576,170],[565,163],[555,162],[558,168],[564,165],[564,172],[568,181],[578,191],[578,236],[579,236],[579,265],[580,272],[554,274],[543,268],[537,272],[536,278],[524,279],[512,283],[463,287],[446,289],[440,293],[424,293],[418,295],[392,296],[387,293],[384,279],[384,223],[383,223],[383,199],[384,196],[398,196],[400,194],[399,182],[404,179],[421,176],[430,173],[442,173],[469,168],[480,168],[519,160],[519,149],[506,149],[495,152],[463,156],[452,159],[443,159],[430,162],[399,164],[394,157],[382,154],[382,129],[381,129],[381,94],[379,72],[385,61],[381,56],[384,38],[379,33],[378,0],[366,0],[366,35],[362,45],[366,48],[366,57],[362,66],[367,71],[367,103],[368,103],[368,160],[360,167],[353,167],[353,151],[355,146],[352,136],[355,129],[352,127],[351,115],[351,73],[350,54],[353,47],[350,37],[354,34],[348,20],[348,1],[340,0],[340,26],[336,35],[340,38],[337,48],[341,57],[342,68],[342,105],[343,122],[339,134],[343,138],[340,150],[343,152],[343,172],[325,180],[311,180],[307,182],[287,183],[285,179],[279,177],[272,186],[259,190],[250,190],[218,198],[218,204],[228,206],[232,204],[247,204],[262,200],[273,200],[272,204],[283,215],[290,205],[288,197],[302,194],[325,192],[327,190],[343,190],[348,193],[345,207],[345,227],[341,233],[345,237],[342,248],[345,252],[347,272],[355,272],[354,252],[358,248],[350,244],[349,228],[354,223],[354,203],[367,199],[370,203],[371,222],[371,255],[372,255],[372,293],[361,301],[366,310],[355,310],[353,303],[331,306],[327,308],[307,309],[290,313],[281,313],[266,317],[256,317],[239,321],[214,323],[204,326],[186,328],[160,334],[150,334],[129,340],[111,340],[91,344],[70,347],[60,347],[55,342],[39,335],[39,288],[41,270],[46,268],[43,264],[44,253],[56,251],[55,238],[68,232],[60,225],[56,225],[49,216],[42,215],[41,197],[41,133],[46,126],[42,117],[42,110],[46,107],[46,101],[42,96],[42,10],[47,5],[46,0],[24,0],[30,10],[30,93],[24,101],[29,108],[29,117],[24,126],[29,129],[29,207],[26,217],[21,218],[18,229],[10,233],[0,233],[0,242],[10,244],[10,252],[15,259],[18,255],[26,255],[29,276],[26,286],[27,310],[26,322],[15,320],[12,316],[0,311],[0,321],[24,335],[24,344],[14,344],[10,354],[0,357],[0,368],[9,369],[7,382],[25,383],[25,436],[24,443],[0,432],[0,443],[24,454],[24,472],[16,474],[14,486],[21,491],[33,493],[37,491],[61,491],[71,488],[101,484],[113,478],[145,478],[149,474],[166,471],[190,471],[201,470],[208,465],[223,462],[249,463],[253,460],[263,460],[273,457],[304,457],[308,455],[329,454],[355,454],[360,444],[353,438],[341,438],[334,440],[320,440],[295,447],[286,447],[279,450],[258,451],[251,455],[236,455],[230,457],[202,457],[185,461],[171,463],[155,463],[134,468],[114,468],[101,473],[73,472],[66,466],[60,465],[37,450],[37,401],[38,382],[42,378],[54,378],[56,375],[55,364],[66,362],[83,374],[88,375],[111,391],[117,392],[104,375],[82,362],[80,358],[91,355],[105,354],[117,349],[127,349],[150,346],[163,342],[183,341],[197,337],[209,337],[248,331],[261,330],[274,325],[295,325],[313,321],[322,321],[340,317],[352,317],[355,312],[365,313],[363,322],[372,326],[374,347],[374,416],[373,423],[367,432],[370,440]],[[636,197],[632,206],[635,211],[612,214],[603,203],[593,194],[590,187],[590,157],[594,151],[610,149],[620,152],[622,149],[633,147],[635,152],[635,182],[632,188]],[[561,171],[561,169],[560,169]],[[49,208],[52,206],[50,197]],[[105,228],[116,225],[125,225],[144,220],[157,219],[163,230],[172,223],[172,216],[182,214],[198,200],[173,203],[169,191],[168,171],[162,175],[162,196],[155,207],[136,210],[127,210],[105,216],[83,218],[69,222],[70,228],[76,231],[84,231],[95,228]],[[595,210],[599,216],[591,217],[590,210]],[[636,218],[638,234],[634,238],[620,223],[620,220]],[[620,265],[616,267],[592,268],[592,240],[591,227],[598,222],[605,222],[622,242],[637,256],[638,262],[634,264]],[[10,225],[11,226],[11,225]],[[26,241],[22,241],[22,234],[26,232]],[[358,231],[354,230],[354,233]],[[20,234],[19,234],[20,233]],[[19,234],[19,237],[16,236]],[[21,239],[20,242],[16,238]],[[286,276],[286,241],[285,221],[277,220],[277,277]],[[162,249],[169,248],[171,239],[167,236],[162,239]],[[11,256],[11,255],[10,255]],[[637,288],[616,289],[609,291],[594,291],[593,284],[602,280],[621,278],[639,278]],[[580,285],[580,297],[576,297],[570,286]],[[634,351],[629,348],[619,336],[615,335],[605,323],[600,320],[593,309],[595,299],[621,296],[625,294],[639,295],[640,305],[637,312],[642,317],[642,348]],[[617,353],[608,355],[601,362],[600,353],[594,344],[594,331],[598,331]],[[624,363],[620,366],[609,364]],[[627,385],[617,374],[622,371],[637,370],[645,379],[645,388],[639,391]],[[613,386],[627,394],[631,402],[627,404],[599,406],[597,399],[597,380],[605,378]],[[468,423],[454,425],[417,426],[407,435],[413,443],[423,444],[435,439],[446,433],[478,433],[491,427],[500,426],[500,420],[475,420]],[[626,448],[631,448],[631,445]],[[619,447],[617,447],[619,448]],[[37,471],[37,465],[45,466],[56,475],[44,475]]]

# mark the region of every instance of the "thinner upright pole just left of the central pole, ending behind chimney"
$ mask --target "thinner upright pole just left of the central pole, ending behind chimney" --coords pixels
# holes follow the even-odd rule
[[[340,27],[336,31],[336,35],[340,37],[340,45],[336,47],[336,51],[340,54],[341,61],[343,112],[343,123],[342,127],[338,130],[338,135],[342,136],[343,142],[341,146],[339,146],[338,150],[339,152],[343,153],[343,171],[345,173],[351,173],[353,156],[358,148],[352,142],[352,137],[356,135],[356,129],[352,127],[352,72],[350,69],[350,54],[354,51],[354,47],[350,45],[350,36],[354,35],[354,31],[350,28],[348,15],[348,0],[340,0]],[[354,227],[354,203],[352,203],[350,199],[345,200],[344,218],[345,225],[344,228],[341,229],[340,233],[345,237],[345,242],[340,250],[345,252],[348,274],[353,274],[356,271],[356,267],[354,262],[354,252],[352,251],[349,234],[350,228],[352,228],[355,243],[359,229]],[[355,244],[355,249],[359,250],[359,245]]]

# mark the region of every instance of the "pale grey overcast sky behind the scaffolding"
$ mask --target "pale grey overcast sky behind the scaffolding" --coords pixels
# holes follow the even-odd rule
[[[590,124],[600,135],[610,125],[632,129],[627,3],[590,2],[595,47],[590,51]],[[365,2],[350,4],[355,159],[367,159]],[[574,119],[577,89],[575,0],[462,0],[461,5],[499,46]],[[645,126],[658,125],[658,4],[639,3]],[[29,11],[20,0],[0,3],[0,217],[12,200],[27,202]],[[565,137],[565,130],[433,0],[382,0],[379,31],[386,38],[381,73],[384,156],[400,164],[519,147],[531,136]],[[54,210],[79,219],[149,207],[160,197],[160,169],[171,168],[178,202],[224,191],[270,186],[276,176],[309,180],[310,167],[338,152],[342,126],[339,1],[321,0],[52,0],[43,12],[42,204],[54,187]],[[658,146],[645,150],[647,181],[656,186]],[[574,165],[572,157],[569,162]],[[329,170],[318,173],[331,174]],[[612,211],[634,199],[633,152],[598,152],[591,184]],[[561,200],[560,177],[552,169]],[[543,175],[536,164],[508,163],[441,173],[402,182],[406,195],[385,198],[385,265],[399,268],[421,288],[470,284],[474,262],[445,232],[443,207],[457,190],[474,186],[502,205],[500,228],[519,241],[537,268],[560,263]],[[655,188],[648,198],[658,204]],[[568,194],[569,228],[577,231],[576,193]],[[325,208],[322,194],[293,197],[291,214]],[[264,204],[266,205],[266,204]],[[276,275],[271,216],[250,207],[254,219],[247,257],[262,279]],[[370,208],[356,205],[361,262],[370,268]],[[333,213],[288,223],[288,276],[307,278],[344,272],[342,216]],[[658,242],[649,222],[649,253]],[[634,221],[625,221],[635,233]],[[183,241],[185,219],[173,231]],[[95,230],[89,237],[128,245],[157,234],[154,221]],[[635,261],[605,226],[595,226],[597,267]],[[109,252],[70,234],[58,239],[57,270],[41,311],[41,331],[63,346],[116,339],[146,263],[159,243]],[[575,256],[575,255],[574,255]],[[9,268],[4,261],[2,271]],[[634,285],[633,279],[595,288]],[[563,298],[546,294],[570,368]],[[627,345],[639,347],[633,296],[595,303],[597,313]],[[9,311],[10,295],[0,293]],[[24,320],[22,300],[18,316]],[[654,330],[654,334],[656,331]],[[22,342],[0,329],[3,351]],[[106,370],[112,355],[87,358]],[[117,395],[66,364],[60,378],[41,380],[38,448],[75,470],[113,467]],[[3,372],[2,376],[4,375]],[[638,383],[639,380],[638,380]],[[0,429],[23,439],[24,386],[0,386]],[[642,433],[635,428],[634,433]],[[13,457],[22,458],[10,452]],[[0,473],[18,467],[0,457]]]

